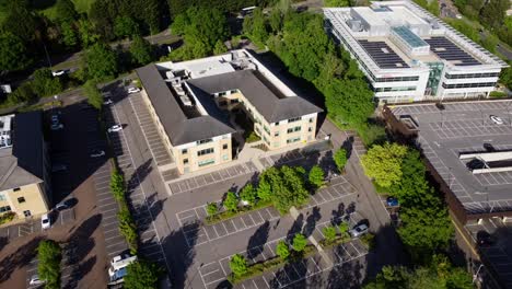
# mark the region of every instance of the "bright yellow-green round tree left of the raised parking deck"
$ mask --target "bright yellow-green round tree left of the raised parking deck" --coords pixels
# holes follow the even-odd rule
[[[386,142],[374,144],[361,158],[364,173],[382,187],[388,188],[402,180],[402,162],[407,147]]]

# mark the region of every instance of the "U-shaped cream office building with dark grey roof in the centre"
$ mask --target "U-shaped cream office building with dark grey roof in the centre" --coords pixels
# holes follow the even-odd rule
[[[298,96],[247,50],[137,70],[142,96],[179,173],[231,162],[234,113],[267,150],[315,140],[321,108]]]

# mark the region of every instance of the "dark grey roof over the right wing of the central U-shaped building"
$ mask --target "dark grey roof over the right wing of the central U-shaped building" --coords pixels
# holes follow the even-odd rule
[[[322,112],[322,108],[300,96],[279,97],[277,89],[266,84],[264,77],[255,70],[191,79],[187,83],[209,94],[237,89],[269,123]]]

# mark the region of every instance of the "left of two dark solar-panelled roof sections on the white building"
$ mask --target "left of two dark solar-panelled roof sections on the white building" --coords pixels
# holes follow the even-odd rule
[[[409,68],[385,42],[358,41],[380,68]]]

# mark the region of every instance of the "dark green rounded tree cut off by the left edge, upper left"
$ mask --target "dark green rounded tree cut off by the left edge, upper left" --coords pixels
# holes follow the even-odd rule
[[[23,70],[30,65],[23,41],[10,32],[0,34],[0,71]]]

